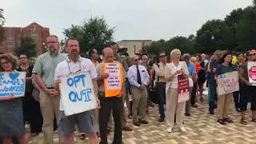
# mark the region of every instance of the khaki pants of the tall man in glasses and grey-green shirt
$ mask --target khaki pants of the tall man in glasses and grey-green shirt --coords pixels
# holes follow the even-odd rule
[[[60,96],[52,97],[40,90],[40,107],[42,112],[43,124],[42,131],[44,134],[44,144],[54,144],[54,116],[58,122]],[[59,134],[59,143],[62,138]]]

